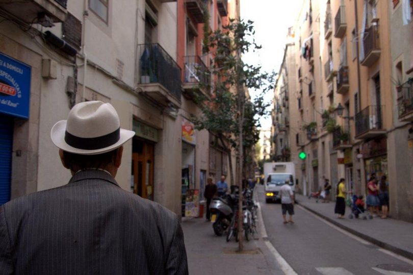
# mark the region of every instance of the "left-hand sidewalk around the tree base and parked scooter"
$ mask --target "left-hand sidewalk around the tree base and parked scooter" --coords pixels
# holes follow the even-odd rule
[[[226,236],[216,236],[205,218],[183,218],[181,224],[189,274],[284,274],[259,233],[255,240],[244,240],[244,253],[239,254],[235,238],[226,242]]]

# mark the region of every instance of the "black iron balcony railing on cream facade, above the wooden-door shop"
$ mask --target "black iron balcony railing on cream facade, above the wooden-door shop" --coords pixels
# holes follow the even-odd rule
[[[158,43],[140,44],[140,84],[159,83],[180,101],[180,68]]]

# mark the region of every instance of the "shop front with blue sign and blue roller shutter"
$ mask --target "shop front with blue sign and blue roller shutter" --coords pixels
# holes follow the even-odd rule
[[[29,118],[30,82],[29,65],[0,53],[0,205],[11,195],[14,120]]]

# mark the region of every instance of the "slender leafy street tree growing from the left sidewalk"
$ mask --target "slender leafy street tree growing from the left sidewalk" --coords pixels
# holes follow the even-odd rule
[[[205,30],[206,31],[206,30]],[[201,87],[211,91],[211,96],[199,93],[195,96],[201,115],[192,116],[197,130],[207,129],[215,134],[228,154],[231,185],[234,185],[234,169],[231,159],[231,149],[237,154],[240,174],[238,184],[242,190],[244,153],[252,150],[259,139],[259,118],[268,114],[268,103],[264,102],[266,91],[273,89],[273,74],[261,71],[260,66],[246,64],[242,55],[248,51],[256,51],[261,46],[254,41],[253,22],[248,20],[230,19],[222,30],[204,34],[204,51],[212,53],[213,64],[210,70],[213,74],[213,84]],[[202,85],[202,84],[200,84]],[[248,90],[260,91],[252,101]],[[242,192],[240,192],[240,209],[242,209]],[[242,244],[242,215],[239,215],[241,227],[240,251]]]

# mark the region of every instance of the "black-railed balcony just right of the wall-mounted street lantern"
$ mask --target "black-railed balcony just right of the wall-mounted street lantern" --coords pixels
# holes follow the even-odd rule
[[[355,115],[355,138],[367,139],[383,135],[383,106],[371,105]]]

